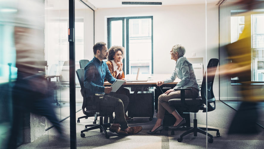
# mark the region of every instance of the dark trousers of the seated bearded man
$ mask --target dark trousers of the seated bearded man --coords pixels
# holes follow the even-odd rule
[[[128,108],[129,98],[123,94],[111,92],[100,99],[100,111],[114,112],[114,123],[119,123],[122,130],[128,128],[125,120],[125,110]]]

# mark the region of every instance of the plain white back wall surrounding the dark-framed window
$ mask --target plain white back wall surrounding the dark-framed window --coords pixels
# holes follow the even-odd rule
[[[177,43],[185,46],[187,58],[203,58],[204,68],[206,68],[210,58],[219,58],[218,6],[214,4],[207,6],[207,57],[205,4],[98,9],[95,11],[95,43],[99,41],[107,43],[107,18],[153,16],[153,71],[155,74],[172,73],[175,61],[170,59],[169,51]],[[191,56],[192,53],[196,53],[196,56]],[[216,77],[214,81],[216,98],[219,97],[218,82]]]

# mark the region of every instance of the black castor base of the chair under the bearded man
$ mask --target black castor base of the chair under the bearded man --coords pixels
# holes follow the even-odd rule
[[[110,126],[111,126],[111,123],[103,123],[103,117],[100,117],[100,124],[85,125],[85,129],[81,131],[81,137],[82,138],[85,137],[84,132],[94,130],[94,129],[100,129],[100,133],[104,132],[106,139],[109,139],[110,136],[107,134],[106,130],[107,128],[110,128]]]

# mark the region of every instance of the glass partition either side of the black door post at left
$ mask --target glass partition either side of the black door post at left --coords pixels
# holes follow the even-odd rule
[[[69,92],[69,1],[45,0],[45,60],[46,76],[53,88],[51,98],[55,114],[60,121],[66,141],[60,142],[70,146],[70,92]],[[75,68],[80,69],[79,60],[93,58],[91,50],[94,45],[94,11],[83,1],[75,0]],[[81,110],[83,97],[77,76],[76,112]],[[83,114],[84,115],[84,114]],[[81,115],[81,116],[83,116]],[[76,116],[76,118],[78,118]],[[59,134],[46,119],[48,145],[54,145]]]

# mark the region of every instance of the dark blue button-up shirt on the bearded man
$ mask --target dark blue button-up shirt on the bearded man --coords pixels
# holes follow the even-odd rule
[[[103,93],[105,89],[103,86],[104,78],[111,84],[116,80],[116,78],[111,75],[106,62],[100,61],[96,57],[85,66],[84,70],[84,88],[86,96]]]

